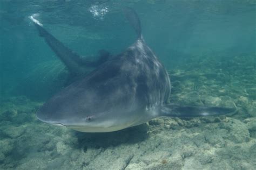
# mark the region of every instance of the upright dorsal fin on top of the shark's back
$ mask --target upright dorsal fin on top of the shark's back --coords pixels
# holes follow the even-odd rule
[[[142,27],[140,26],[140,19],[137,12],[131,8],[124,8],[124,14],[135,30],[138,39],[142,39]]]

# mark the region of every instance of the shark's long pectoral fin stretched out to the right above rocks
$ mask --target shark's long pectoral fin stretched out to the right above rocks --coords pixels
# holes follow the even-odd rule
[[[234,113],[234,108],[224,107],[196,107],[196,106],[180,106],[176,104],[166,104],[160,109],[160,116],[171,117],[197,117],[197,116],[218,116]]]

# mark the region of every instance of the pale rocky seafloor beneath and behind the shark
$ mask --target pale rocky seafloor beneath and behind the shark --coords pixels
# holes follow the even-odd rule
[[[200,57],[170,70],[171,102],[237,107],[230,116],[82,133],[39,122],[43,103],[2,98],[0,169],[256,169],[255,58]]]

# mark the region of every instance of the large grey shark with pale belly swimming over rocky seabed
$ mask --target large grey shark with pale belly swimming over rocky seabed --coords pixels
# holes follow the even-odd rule
[[[112,132],[146,123],[159,116],[214,116],[233,112],[233,108],[181,106],[168,103],[171,82],[163,64],[146,45],[140,19],[132,9],[124,9],[137,40],[124,52],[94,63],[84,74],[82,57],[65,47],[31,17],[39,36],[70,72],[83,75],[60,90],[36,113],[45,123],[66,126],[81,132]],[[84,64],[85,63],[85,64]]]

